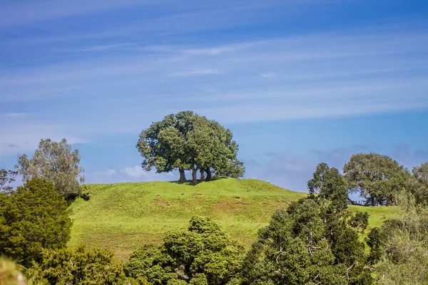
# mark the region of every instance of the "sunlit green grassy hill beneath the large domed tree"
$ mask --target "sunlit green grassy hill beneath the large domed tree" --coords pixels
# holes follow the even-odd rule
[[[260,180],[225,178],[198,185],[141,182],[88,185],[91,199],[71,204],[69,247],[107,247],[126,259],[142,244],[161,242],[165,232],[187,227],[193,215],[212,218],[233,239],[250,246],[275,209],[305,197]],[[378,226],[398,210],[352,206],[372,214]]]

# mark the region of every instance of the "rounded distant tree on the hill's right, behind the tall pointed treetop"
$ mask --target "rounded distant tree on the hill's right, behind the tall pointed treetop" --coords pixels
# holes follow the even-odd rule
[[[389,206],[397,192],[409,186],[409,172],[387,155],[359,153],[343,167],[351,192],[359,192],[366,204]]]

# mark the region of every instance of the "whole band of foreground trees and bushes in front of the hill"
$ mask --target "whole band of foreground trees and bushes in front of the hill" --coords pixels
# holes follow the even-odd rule
[[[121,263],[106,249],[66,249],[68,203],[51,181],[32,177],[0,195],[0,253],[31,284],[426,284],[428,208],[412,192],[395,197],[402,217],[361,239],[367,212],[348,209],[347,182],[325,163],[307,197],[277,209],[250,249],[207,217],[145,244]],[[1,264],[1,261],[0,261]],[[0,276],[1,276],[0,266]]]

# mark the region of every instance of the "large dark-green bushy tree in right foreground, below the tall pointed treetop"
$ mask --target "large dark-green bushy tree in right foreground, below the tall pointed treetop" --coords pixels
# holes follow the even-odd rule
[[[371,284],[364,244],[344,221],[325,222],[315,199],[277,210],[245,258],[243,283]]]

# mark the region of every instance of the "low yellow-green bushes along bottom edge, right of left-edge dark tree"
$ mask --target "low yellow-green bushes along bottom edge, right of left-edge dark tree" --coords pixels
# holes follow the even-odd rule
[[[113,259],[113,253],[106,249],[86,250],[44,249],[41,261],[34,262],[26,270],[35,284],[40,285],[102,285],[138,284],[127,279],[122,265]]]

